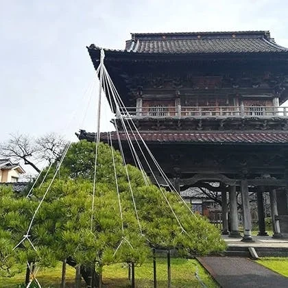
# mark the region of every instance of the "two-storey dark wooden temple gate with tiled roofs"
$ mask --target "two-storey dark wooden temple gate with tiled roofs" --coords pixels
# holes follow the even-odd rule
[[[87,49],[96,69],[101,48]],[[239,235],[241,193],[244,241],[252,240],[249,191],[257,193],[259,235],[265,235],[263,193],[269,191],[274,237],[283,236],[288,107],[281,105],[288,99],[288,49],[267,31],[132,33],[125,49],[104,53],[125,106],[116,110],[108,99],[118,128],[110,142],[119,149],[121,141],[128,162],[133,163],[131,143],[143,139],[179,193],[181,187],[221,183],[208,189],[221,192],[224,233],[229,213],[231,237]],[[108,85],[104,88],[109,95]],[[131,123],[128,132],[125,125]],[[95,141],[95,134],[81,130],[79,138]],[[100,139],[107,142],[108,134]],[[149,173],[151,167],[144,169]]]

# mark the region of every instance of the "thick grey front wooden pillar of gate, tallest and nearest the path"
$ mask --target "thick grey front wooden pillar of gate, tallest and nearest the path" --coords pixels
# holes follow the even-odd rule
[[[252,242],[252,219],[250,213],[250,203],[249,203],[249,191],[247,180],[241,180],[241,197],[242,197],[242,207],[243,207],[243,228],[244,236],[241,241]]]

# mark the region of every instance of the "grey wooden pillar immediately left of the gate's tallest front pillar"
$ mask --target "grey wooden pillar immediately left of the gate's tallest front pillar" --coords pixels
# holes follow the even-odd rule
[[[238,209],[237,209],[237,197],[236,187],[229,187],[229,202],[230,202],[230,233],[229,237],[239,238],[241,237],[239,232],[238,221]]]

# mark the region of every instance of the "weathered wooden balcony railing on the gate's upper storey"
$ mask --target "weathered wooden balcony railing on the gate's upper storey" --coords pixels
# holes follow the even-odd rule
[[[176,107],[128,107],[117,112],[119,117],[132,118],[208,118],[208,117],[287,117],[288,107],[274,106],[176,106]]]

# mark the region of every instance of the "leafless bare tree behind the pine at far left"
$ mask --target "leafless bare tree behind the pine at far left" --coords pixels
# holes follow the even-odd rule
[[[11,134],[8,141],[0,143],[0,156],[16,162],[23,161],[39,173],[39,163],[44,160],[51,163],[62,152],[65,144],[62,136],[55,133],[46,134],[38,139],[27,134]]]

